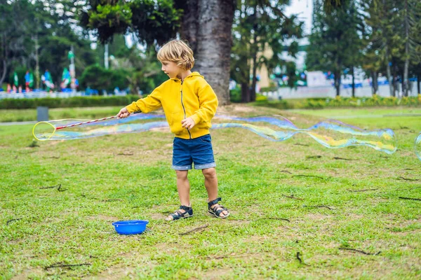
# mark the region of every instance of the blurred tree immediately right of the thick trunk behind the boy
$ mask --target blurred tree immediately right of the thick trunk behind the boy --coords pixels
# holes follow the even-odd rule
[[[241,84],[243,102],[255,101],[258,69],[265,65],[271,71],[279,64],[286,65],[280,57],[284,49],[293,56],[298,52],[296,39],[302,37],[302,22],[299,22],[295,15],[291,17],[284,15],[283,9],[288,3],[287,0],[276,3],[239,1],[239,11],[234,18],[231,69],[233,76]],[[267,49],[272,50],[274,55],[266,57],[264,52]],[[290,69],[289,64],[288,69]]]

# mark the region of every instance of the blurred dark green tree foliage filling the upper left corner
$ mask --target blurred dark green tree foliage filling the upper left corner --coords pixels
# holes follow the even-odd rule
[[[81,3],[57,1],[7,1],[0,5],[0,65],[6,64],[6,82],[20,67],[34,73],[34,79],[48,69],[57,83],[69,66],[67,52],[74,47],[76,77],[86,65],[96,62],[91,41],[74,28]],[[35,73],[38,46],[39,76]],[[2,73],[0,73],[0,77]],[[3,81],[0,80],[0,83]]]

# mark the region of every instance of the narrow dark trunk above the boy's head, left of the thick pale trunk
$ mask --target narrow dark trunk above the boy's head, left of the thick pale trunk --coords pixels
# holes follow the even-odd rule
[[[196,53],[197,50],[197,31],[199,22],[197,13],[199,10],[199,0],[184,1],[182,9],[181,38],[189,42],[190,48]]]

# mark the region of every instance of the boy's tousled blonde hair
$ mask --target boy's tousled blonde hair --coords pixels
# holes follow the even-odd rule
[[[158,51],[158,60],[168,60],[177,63],[182,69],[190,70],[194,66],[193,50],[181,40],[171,40]]]

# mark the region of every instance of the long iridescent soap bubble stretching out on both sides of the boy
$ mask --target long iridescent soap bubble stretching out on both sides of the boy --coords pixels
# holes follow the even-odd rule
[[[108,119],[95,123],[65,127],[80,123],[83,120],[51,120],[40,122],[34,126],[34,137],[40,141],[70,140],[100,137],[109,134],[137,133],[146,131],[169,132],[169,126],[162,114],[132,114],[128,118]],[[258,134],[270,141],[286,141],[295,134],[307,134],[326,148],[345,148],[347,146],[368,146],[377,151],[392,154],[396,151],[397,142],[393,130],[362,130],[338,120],[323,120],[306,129],[300,129],[282,116],[256,116],[241,118],[237,116],[217,114],[212,120],[212,129],[228,127],[242,128]],[[415,141],[415,151],[420,158],[421,136]],[[418,148],[417,148],[418,147]]]

